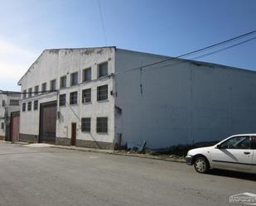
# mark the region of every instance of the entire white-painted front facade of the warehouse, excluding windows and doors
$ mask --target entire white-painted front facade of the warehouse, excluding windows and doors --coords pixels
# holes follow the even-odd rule
[[[94,49],[63,49],[45,50],[42,55],[31,66],[27,74],[20,80],[22,91],[46,82],[47,89],[50,89],[50,81],[56,79],[56,89],[60,89],[60,77],[67,76],[67,88],[60,89],[57,93],[40,95],[37,97],[22,99],[22,103],[27,103],[38,99],[39,103],[46,103],[57,100],[59,94],[66,93],[66,101],[69,103],[70,93],[78,92],[78,105],[59,107],[60,119],[56,122],[56,137],[71,137],[71,122],[76,122],[77,139],[112,142],[114,139],[114,98],[110,95],[113,89],[113,79],[98,79],[98,65],[108,61],[109,74],[114,73],[114,47],[103,47]],[[92,68],[92,81],[82,83],[82,70]],[[70,74],[78,71],[79,85],[70,87]],[[96,101],[96,89],[99,85],[109,85],[109,99],[104,102]],[[82,104],[82,89],[92,89],[92,103]],[[59,103],[58,103],[59,105]],[[21,106],[22,111],[22,106]],[[78,117],[76,117],[78,116]],[[80,118],[91,117],[91,132],[85,133],[80,130]],[[109,118],[108,134],[96,133],[96,117]],[[21,112],[20,132],[24,134],[39,134],[39,109],[31,112]]]

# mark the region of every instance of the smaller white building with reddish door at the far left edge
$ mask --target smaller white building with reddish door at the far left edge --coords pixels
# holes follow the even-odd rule
[[[0,140],[19,140],[20,93],[0,90]]]

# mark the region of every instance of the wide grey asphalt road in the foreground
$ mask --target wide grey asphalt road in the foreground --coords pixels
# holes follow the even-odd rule
[[[0,143],[1,206],[238,205],[256,176],[184,163]]]

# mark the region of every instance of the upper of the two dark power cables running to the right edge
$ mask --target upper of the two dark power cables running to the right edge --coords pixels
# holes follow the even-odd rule
[[[124,70],[124,71],[119,72],[119,73],[126,73],[128,71],[132,71],[132,70],[136,70],[136,69],[142,69],[142,68],[145,68],[145,67],[149,67],[149,66],[152,66],[152,65],[157,65],[157,64],[160,64],[160,63],[163,63],[163,62],[167,62],[167,61],[170,61],[170,60],[176,60],[176,59],[179,59],[179,58],[182,58],[182,57],[186,57],[186,56],[189,56],[189,55],[195,55],[195,54],[198,54],[198,53],[206,51],[206,50],[211,50],[211,49],[213,49],[215,47],[218,47],[218,46],[224,46],[225,44],[228,44],[228,43],[230,43],[232,41],[238,41],[239,39],[243,39],[245,37],[252,36],[255,33],[256,33],[256,30],[250,31],[250,32],[245,33],[243,35],[235,36],[235,37],[230,38],[229,40],[226,40],[226,41],[220,41],[219,43],[215,43],[215,44],[213,44],[211,46],[206,46],[206,47],[201,48],[199,50],[193,50],[193,51],[188,52],[188,53],[183,54],[183,55],[178,55],[176,57],[170,57],[170,58],[167,58],[166,60],[156,61],[156,62],[154,62],[152,64],[148,64],[148,65],[142,65],[142,66],[139,66],[139,67],[134,67],[132,69],[127,69],[127,70]]]

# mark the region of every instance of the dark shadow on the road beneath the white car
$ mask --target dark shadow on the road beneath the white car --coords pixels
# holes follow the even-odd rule
[[[210,175],[216,175],[216,176],[225,176],[225,177],[231,177],[231,178],[237,178],[242,180],[251,180],[256,181],[256,175],[255,174],[248,174],[243,172],[236,172],[236,171],[230,171],[230,170],[210,170]]]

